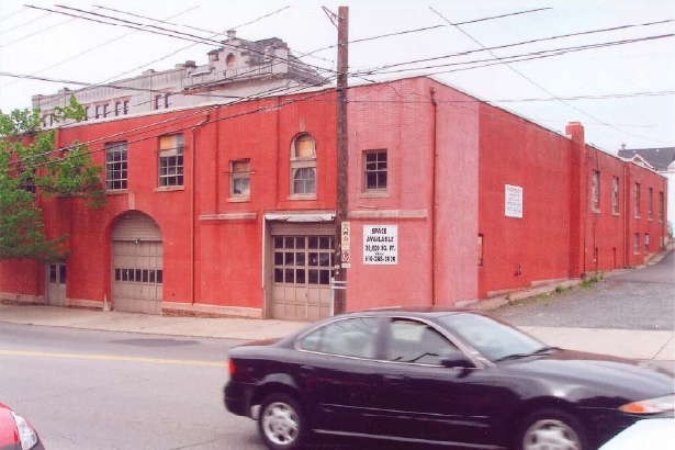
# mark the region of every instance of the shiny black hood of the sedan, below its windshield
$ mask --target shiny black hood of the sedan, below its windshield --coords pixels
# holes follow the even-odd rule
[[[526,358],[510,364],[540,380],[592,386],[609,396],[632,401],[673,393],[673,373],[654,364],[607,355],[558,350],[541,358]]]

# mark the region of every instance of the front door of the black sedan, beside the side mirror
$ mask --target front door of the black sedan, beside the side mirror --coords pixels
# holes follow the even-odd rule
[[[508,390],[492,367],[448,368],[463,356],[431,325],[393,318],[385,329],[378,420],[385,436],[490,445],[502,440],[495,424]]]

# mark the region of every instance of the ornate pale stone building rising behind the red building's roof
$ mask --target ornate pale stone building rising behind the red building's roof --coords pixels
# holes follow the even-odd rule
[[[315,68],[293,56],[288,44],[277,37],[251,42],[229,31],[223,46],[207,55],[209,63],[203,66],[188,60],[169,70],[148,69],[138,77],[111,83],[33,95],[33,108],[42,110],[44,125],[49,127],[54,125],[49,112],[54,106],[65,105],[70,95],[85,105],[86,120],[91,121],[283,93],[326,82]]]

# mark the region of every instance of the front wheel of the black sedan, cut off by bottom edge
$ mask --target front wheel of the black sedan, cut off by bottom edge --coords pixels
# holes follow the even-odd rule
[[[560,409],[540,409],[520,424],[516,450],[542,448],[560,450],[592,450],[583,424]]]

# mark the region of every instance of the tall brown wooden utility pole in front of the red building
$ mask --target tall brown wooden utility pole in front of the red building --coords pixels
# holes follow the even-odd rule
[[[338,63],[337,63],[337,187],[335,215],[335,303],[334,312],[344,313],[347,308],[347,268],[350,265],[349,223],[347,222],[347,70],[349,67],[349,7],[339,7],[337,16]],[[335,23],[335,22],[334,22]]]

